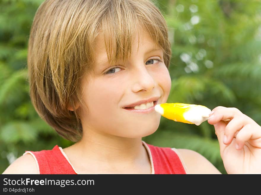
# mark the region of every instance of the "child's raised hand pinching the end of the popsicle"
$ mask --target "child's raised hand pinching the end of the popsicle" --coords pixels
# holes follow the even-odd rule
[[[261,174],[261,127],[236,108],[218,106],[211,113],[208,122],[215,127],[227,173]]]

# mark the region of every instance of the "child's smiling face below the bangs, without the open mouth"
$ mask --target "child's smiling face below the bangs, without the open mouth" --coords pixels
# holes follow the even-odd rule
[[[130,59],[125,65],[119,61],[117,67],[112,69],[103,35],[98,37],[94,72],[83,80],[83,100],[88,107],[88,110],[82,111],[81,116],[83,136],[86,131],[94,130],[137,138],[157,130],[161,115],[154,108],[148,113],[124,109],[132,103],[152,97],[158,99],[157,104],[165,103],[168,99],[171,78],[163,62],[163,51],[154,44],[148,34],[140,34],[137,52],[136,36]],[[160,50],[149,52],[155,47]]]

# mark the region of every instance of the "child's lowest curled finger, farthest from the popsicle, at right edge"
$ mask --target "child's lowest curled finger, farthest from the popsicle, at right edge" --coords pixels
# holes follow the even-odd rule
[[[261,130],[256,128],[255,125],[246,124],[238,133],[236,134],[236,149],[241,150],[245,142],[249,139],[258,139],[261,137]]]

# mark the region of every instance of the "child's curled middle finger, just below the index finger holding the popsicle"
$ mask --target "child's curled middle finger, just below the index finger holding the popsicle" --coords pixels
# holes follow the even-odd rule
[[[227,124],[224,132],[224,144],[230,144],[235,137],[237,131],[239,131],[246,124],[246,120],[242,116],[238,116],[237,118],[233,118]]]

